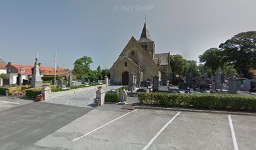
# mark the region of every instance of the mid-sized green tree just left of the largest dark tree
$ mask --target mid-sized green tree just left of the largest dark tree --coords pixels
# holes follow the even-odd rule
[[[212,73],[215,74],[216,69],[221,66],[222,51],[217,48],[211,48],[199,56],[200,63],[205,63],[205,66],[210,68]]]

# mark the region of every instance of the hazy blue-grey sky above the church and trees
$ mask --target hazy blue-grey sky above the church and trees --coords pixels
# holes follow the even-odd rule
[[[109,69],[125,45],[141,36],[146,15],[156,53],[198,56],[239,32],[256,31],[255,0],[1,0],[0,59],[73,69]]]

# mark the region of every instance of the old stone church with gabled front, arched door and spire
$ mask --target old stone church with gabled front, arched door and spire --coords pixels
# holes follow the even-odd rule
[[[156,54],[146,21],[141,38],[137,41],[132,36],[110,68],[110,80],[114,84],[127,85],[129,73],[134,73],[134,78],[139,78],[140,81],[152,82],[153,76],[159,76],[159,81],[170,78],[170,53]]]

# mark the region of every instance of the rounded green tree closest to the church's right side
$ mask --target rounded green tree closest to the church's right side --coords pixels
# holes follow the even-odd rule
[[[186,68],[186,59],[179,54],[172,55],[170,56],[170,65],[174,74],[183,74]]]

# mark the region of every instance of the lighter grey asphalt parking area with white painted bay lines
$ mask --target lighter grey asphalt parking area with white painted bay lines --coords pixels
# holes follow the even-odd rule
[[[255,149],[256,117],[105,104],[27,149]]]

